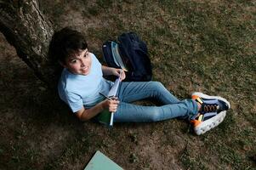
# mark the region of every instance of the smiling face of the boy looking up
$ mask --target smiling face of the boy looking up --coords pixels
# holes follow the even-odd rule
[[[77,55],[66,58],[65,64],[62,65],[73,74],[87,76],[92,65],[92,57],[88,52],[88,48],[80,50]]]

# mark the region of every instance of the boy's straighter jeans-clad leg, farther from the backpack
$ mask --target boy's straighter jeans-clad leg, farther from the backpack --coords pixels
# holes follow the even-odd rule
[[[195,116],[198,106],[192,99],[162,106],[142,106],[120,102],[114,122],[157,122],[180,116]]]

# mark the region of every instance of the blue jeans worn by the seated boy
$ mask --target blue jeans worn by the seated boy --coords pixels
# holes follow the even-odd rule
[[[157,122],[174,117],[191,117],[198,113],[196,101],[180,101],[161,82],[122,82],[117,96],[120,103],[114,114],[114,122]],[[154,99],[162,105],[130,104],[141,99]]]

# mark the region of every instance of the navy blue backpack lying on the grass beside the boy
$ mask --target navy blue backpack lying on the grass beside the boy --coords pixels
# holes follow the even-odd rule
[[[107,41],[102,46],[108,66],[126,71],[127,82],[148,82],[152,79],[151,60],[148,49],[136,33],[122,33],[116,41]]]

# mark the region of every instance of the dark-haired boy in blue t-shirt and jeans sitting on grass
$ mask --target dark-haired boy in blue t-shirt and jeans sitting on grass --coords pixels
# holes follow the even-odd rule
[[[117,97],[104,99],[99,93],[108,94],[113,82],[103,76],[115,75],[123,80],[125,73],[101,65],[88,51],[82,34],[68,27],[54,33],[49,54],[64,67],[58,85],[60,99],[81,121],[88,121],[105,109],[115,112],[115,122],[157,122],[185,117],[190,119],[199,135],[219,125],[230,108],[226,99],[202,93],[194,93],[192,99],[180,101],[161,82],[122,82]],[[130,104],[140,99],[155,99],[162,105]]]

